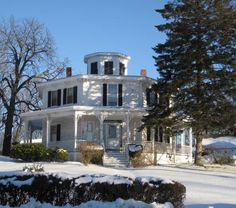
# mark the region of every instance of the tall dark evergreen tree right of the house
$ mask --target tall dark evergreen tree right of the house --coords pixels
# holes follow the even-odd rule
[[[156,11],[166,19],[156,28],[167,39],[154,48],[160,78],[153,89],[171,103],[156,104],[143,121],[171,132],[180,122],[192,127],[201,165],[204,132],[224,128],[227,115],[235,114],[235,3],[176,0]]]

